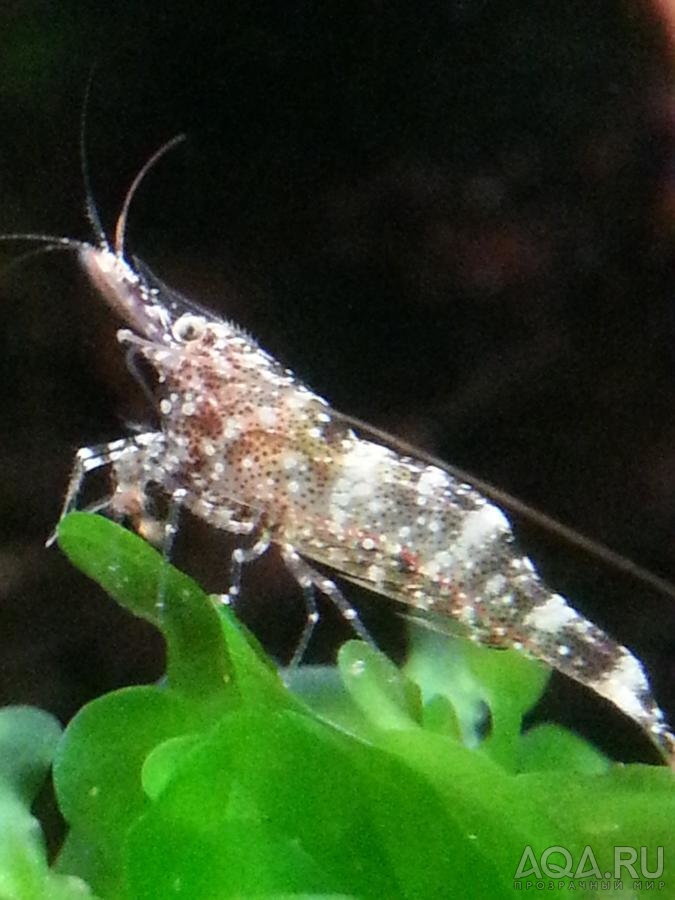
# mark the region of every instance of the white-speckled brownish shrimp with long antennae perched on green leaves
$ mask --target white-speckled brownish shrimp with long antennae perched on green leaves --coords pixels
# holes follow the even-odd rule
[[[279,547],[308,609],[295,661],[318,619],[314,589],[369,639],[337,585],[314,569],[316,562],[413,614],[451,622],[473,640],[543,660],[611,701],[673,766],[675,736],[642,664],[543,583],[493,502],[498,492],[335,412],[236,324],[166,287],[138,260],[132,265],[126,259],[131,199],[148,170],[180,139],[164,145],[134,179],[112,244],[91,199],[86,169],[96,243],[44,234],[3,236],[74,250],[128,326],[118,331],[119,342],[146,360],[158,382],[159,429],[78,450],[63,515],[76,508],[85,476],[100,467],[110,467],[112,489],[99,507],[136,522],[152,521],[148,489],[159,486],[175,508],[187,507],[215,528],[249,536],[250,546],[233,553],[230,596],[239,590],[244,563],[272,543]],[[166,542],[174,521],[164,530]],[[569,536],[564,526],[554,529]],[[622,565],[643,580],[658,581],[625,560]]]

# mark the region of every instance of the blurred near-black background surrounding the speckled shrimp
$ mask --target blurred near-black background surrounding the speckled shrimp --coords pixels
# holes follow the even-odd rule
[[[339,409],[675,579],[674,50],[669,4],[4,3],[0,230],[88,239],[78,152],[110,228]],[[154,633],[43,542],[78,446],[151,421],[119,323],[69,254],[0,281],[0,699],[63,720],[158,677]],[[675,718],[675,601],[519,524],[547,581],[653,673]],[[228,546],[185,523],[179,561],[223,589]],[[273,554],[245,616],[288,656]],[[381,642],[388,604],[346,588]],[[313,645],[344,634],[329,610]],[[597,698],[543,713],[653,758]]]

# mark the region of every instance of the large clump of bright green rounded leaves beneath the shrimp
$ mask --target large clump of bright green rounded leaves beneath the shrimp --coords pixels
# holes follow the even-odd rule
[[[60,540],[169,648],[166,684],[89,704],[56,755],[60,871],[106,900],[507,898],[526,847],[605,860],[668,840],[671,772],[610,766],[559,727],[521,733],[548,670],[519,654],[427,635],[404,674],[350,642],[339,669],[290,674],[301,700],[137,536],[73,514]]]

